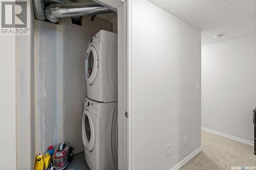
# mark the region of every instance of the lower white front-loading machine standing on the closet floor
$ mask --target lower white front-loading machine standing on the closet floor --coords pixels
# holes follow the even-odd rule
[[[118,168],[117,102],[84,100],[82,140],[84,158],[91,170]]]

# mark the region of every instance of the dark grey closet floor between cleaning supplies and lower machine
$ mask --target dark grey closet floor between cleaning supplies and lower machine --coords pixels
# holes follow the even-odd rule
[[[84,159],[83,152],[74,155],[74,159],[71,161],[68,170],[90,170]]]

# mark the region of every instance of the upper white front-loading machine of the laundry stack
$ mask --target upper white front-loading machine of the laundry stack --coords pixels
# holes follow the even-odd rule
[[[87,97],[117,102],[117,34],[101,30],[88,43],[85,74]]]

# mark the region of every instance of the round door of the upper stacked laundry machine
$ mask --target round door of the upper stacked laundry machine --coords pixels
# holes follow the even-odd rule
[[[90,46],[86,52],[86,81],[92,85],[98,72],[98,55],[94,46]]]

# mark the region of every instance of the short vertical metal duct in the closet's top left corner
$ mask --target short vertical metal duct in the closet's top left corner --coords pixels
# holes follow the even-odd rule
[[[46,2],[45,0],[33,0],[35,18],[39,20],[46,19]]]

